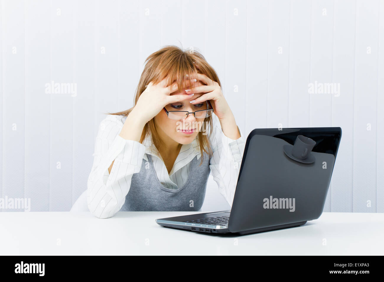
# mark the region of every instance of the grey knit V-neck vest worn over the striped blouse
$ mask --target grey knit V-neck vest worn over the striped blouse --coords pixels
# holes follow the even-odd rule
[[[212,148],[212,147],[211,147]],[[204,161],[195,156],[190,162],[188,179],[177,190],[166,188],[157,178],[152,156],[143,159],[140,172],[132,175],[131,186],[120,211],[200,211],[210,174],[209,155]]]

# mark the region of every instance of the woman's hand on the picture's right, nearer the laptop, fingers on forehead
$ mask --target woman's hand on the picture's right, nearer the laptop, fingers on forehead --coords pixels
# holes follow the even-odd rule
[[[185,92],[187,94],[191,93],[205,93],[199,98],[192,100],[191,104],[199,104],[201,102],[210,100],[212,108],[214,109],[215,115],[217,115],[219,120],[224,119],[227,115],[231,115],[232,111],[224,98],[223,92],[220,85],[207,77],[205,74],[195,73],[190,79],[196,78],[198,81],[201,81],[203,84],[201,86],[191,87],[190,91]]]

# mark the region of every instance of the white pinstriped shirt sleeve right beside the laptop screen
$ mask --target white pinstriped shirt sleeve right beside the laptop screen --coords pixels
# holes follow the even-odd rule
[[[223,133],[216,115],[212,115],[212,135],[210,141],[213,156],[210,159],[212,176],[218,184],[218,190],[232,207],[237,185],[237,178],[243,159],[245,140],[239,127],[240,138],[230,139]]]

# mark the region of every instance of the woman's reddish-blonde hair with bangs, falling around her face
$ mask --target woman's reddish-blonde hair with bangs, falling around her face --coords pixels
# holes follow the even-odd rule
[[[181,92],[185,87],[185,81],[183,80],[187,76],[191,77],[193,73],[205,74],[208,78],[212,79],[213,81],[216,81],[221,87],[220,81],[214,68],[212,68],[212,66],[207,63],[204,56],[199,51],[195,51],[194,49],[190,50],[188,48],[183,51],[182,49],[174,45],[164,46],[163,48],[149,55],[146,58],[145,62],[147,63],[144,66],[144,70],[141,74],[139,84],[136,88],[134,105],[136,105],[141,93],[144,92],[149,82],[153,81],[154,84],[157,84],[162,81],[162,79],[166,78],[168,75],[169,78],[167,81],[167,86],[172,84],[173,81],[177,80],[177,87],[179,92]],[[197,82],[195,83],[197,84]],[[190,82],[190,84],[193,87],[194,83]],[[134,107],[125,111],[107,114],[127,116],[133,108]],[[210,124],[210,135],[212,133],[212,115],[206,117],[204,119],[204,123],[205,122],[209,122]],[[157,150],[159,150],[159,152],[162,152],[162,149],[165,147],[165,144],[157,133],[154,118],[149,120],[149,122],[144,125],[144,129],[140,138],[140,143],[144,142],[144,139],[149,132],[151,132],[152,140]],[[209,145],[209,139],[207,135],[203,135],[202,133],[203,132],[200,130],[200,132],[197,134],[198,145],[200,147],[201,153],[200,165],[203,163],[203,151],[209,156],[212,156],[213,153]]]

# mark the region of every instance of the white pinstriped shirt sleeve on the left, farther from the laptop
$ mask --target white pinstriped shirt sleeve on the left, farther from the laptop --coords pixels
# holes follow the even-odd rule
[[[99,125],[87,183],[88,208],[98,218],[112,217],[121,209],[132,174],[140,172],[145,146],[119,136],[122,127],[116,115],[108,115]],[[109,175],[108,168],[113,160]]]

